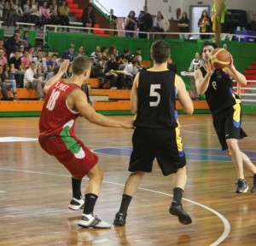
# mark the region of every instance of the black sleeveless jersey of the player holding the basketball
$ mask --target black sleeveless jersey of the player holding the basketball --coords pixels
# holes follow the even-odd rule
[[[202,76],[205,77],[207,74],[205,66],[201,66],[200,70]],[[230,76],[222,69],[215,69],[205,93],[212,115],[216,115],[218,112],[236,105],[236,103],[241,103],[241,100],[234,94],[232,88],[233,82]]]

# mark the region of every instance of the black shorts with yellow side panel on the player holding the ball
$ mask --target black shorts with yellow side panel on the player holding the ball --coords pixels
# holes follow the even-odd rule
[[[225,151],[228,149],[227,139],[241,140],[247,134],[241,129],[241,105],[230,106],[227,110],[212,116],[213,126],[218,135],[218,140]]]

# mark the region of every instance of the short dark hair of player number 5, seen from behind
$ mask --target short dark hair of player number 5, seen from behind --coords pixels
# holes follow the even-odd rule
[[[170,46],[163,40],[157,40],[152,43],[150,54],[158,64],[166,62],[170,56]]]

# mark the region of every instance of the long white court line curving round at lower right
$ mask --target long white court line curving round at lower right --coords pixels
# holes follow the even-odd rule
[[[65,175],[65,174],[52,174],[52,173],[44,173],[44,172],[36,172],[36,171],[28,171],[28,170],[19,170],[19,169],[3,169],[0,168],[0,170],[4,170],[4,171],[15,171],[15,172],[23,172],[23,173],[27,173],[27,174],[45,174],[45,175],[53,175],[53,176],[60,176],[60,177],[68,177],[70,178],[70,175]],[[88,178],[84,178],[85,180],[88,180]],[[119,183],[115,183],[115,182],[111,182],[111,181],[102,181],[103,183],[106,184],[111,184],[111,185],[115,185],[115,186],[125,186],[124,184],[119,184]],[[154,192],[154,193],[158,193],[161,195],[165,195],[168,197],[173,197],[171,194],[165,193],[165,192],[157,192],[154,190],[150,190],[150,189],[146,189],[146,188],[141,188],[138,187],[139,190],[143,190],[143,191],[147,191],[147,192]],[[228,237],[228,235],[230,234],[230,222],[229,220],[227,220],[224,215],[221,215],[220,213],[218,213],[216,210],[211,209],[209,207],[207,207],[206,205],[203,205],[201,203],[196,203],[192,200],[189,200],[187,198],[183,198],[183,200],[189,202],[189,203],[193,203],[197,206],[200,206],[203,209],[207,209],[210,212],[212,212],[212,214],[216,215],[220,220],[222,220],[223,224],[224,224],[224,232],[222,233],[222,235],[220,237],[218,237],[218,239],[213,242],[212,244],[210,244],[209,246],[217,246],[219,245],[219,243],[222,243],[224,241],[225,238]]]

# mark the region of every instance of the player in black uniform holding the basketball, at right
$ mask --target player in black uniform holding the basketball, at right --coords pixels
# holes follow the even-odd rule
[[[205,66],[195,71],[196,88],[199,94],[206,95],[220,145],[236,167],[238,176],[236,193],[248,190],[243,168],[254,174],[251,192],[256,192],[256,167],[238,146],[237,140],[246,137],[247,134],[241,129],[241,100],[232,90],[232,78],[241,86],[246,85],[247,80],[236,70],[233,58],[230,60],[230,65],[224,69],[214,69],[210,55],[215,48],[215,43],[203,43],[202,57]]]

